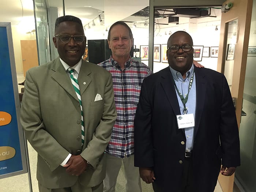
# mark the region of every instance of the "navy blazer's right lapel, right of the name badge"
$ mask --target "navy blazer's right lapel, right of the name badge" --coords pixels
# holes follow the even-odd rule
[[[207,81],[203,69],[195,67],[196,74],[196,114],[195,114],[195,130],[194,138],[199,128],[199,123],[202,117],[205,97],[206,97],[206,85]]]

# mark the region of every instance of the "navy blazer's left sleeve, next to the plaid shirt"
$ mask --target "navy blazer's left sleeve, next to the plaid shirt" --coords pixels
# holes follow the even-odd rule
[[[147,92],[144,79],[134,120],[134,166],[136,167],[154,166],[150,97],[152,94]]]

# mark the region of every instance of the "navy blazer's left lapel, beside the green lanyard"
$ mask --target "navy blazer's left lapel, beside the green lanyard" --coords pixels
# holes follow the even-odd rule
[[[163,69],[161,78],[161,85],[170,105],[172,106],[173,112],[175,115],[179,115],[180,106],[178,104],[178,99],[174,88],[174,81],[169,67]]]

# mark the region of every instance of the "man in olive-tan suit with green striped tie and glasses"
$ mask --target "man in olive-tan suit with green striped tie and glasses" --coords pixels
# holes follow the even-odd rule
[[[39,191],[100,192],[116,120],[112,76],[82,60],[86,37],[79,18],[57,18],[53,42],[59,57],[27,71],[21,108],[27,140],[38,153]]]

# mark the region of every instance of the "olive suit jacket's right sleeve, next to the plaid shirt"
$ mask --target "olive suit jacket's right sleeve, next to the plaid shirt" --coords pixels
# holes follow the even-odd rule
[[[100,123],[95,129],[92,140],[88,143],[87,147],[81,153],[81,156],[86,159],[93,167],[97,166],[99,158],[102,157],[102,154],[108,146],[111,138],[113,125],[117,118],[116,106],[114,103],[112,76],[109,72],[107,73],[109,74],[108,79],[106,79],[105,87],[103,87],[103,89],[105,89],[105,93],[103,96],[104,108],[103,113],[99,114],[102,117]]]

